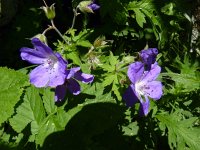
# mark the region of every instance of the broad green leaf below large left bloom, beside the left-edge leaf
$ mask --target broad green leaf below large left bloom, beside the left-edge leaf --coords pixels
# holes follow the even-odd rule
[[[35,87],[26,90],[23,103],[17,108],[17,114],[9,121],[12,128],[20,133],[31,123],[31,133],[37,134],[41,122],[45,118],[43,102]]]

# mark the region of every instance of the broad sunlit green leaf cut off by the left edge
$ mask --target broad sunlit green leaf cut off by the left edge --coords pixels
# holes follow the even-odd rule
[[[27,75],[12,69],[0,67],[0,124],[13,113],[15,104],[20,100],[23,89],[29,85]]]

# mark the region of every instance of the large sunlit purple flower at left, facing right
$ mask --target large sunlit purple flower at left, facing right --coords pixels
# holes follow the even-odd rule
[[[30,82],[36,87],[56,87],[65,82],[67,62],[59,53],[54,53],[50,47],[38,38],[32,39],[34,48],[20,49],[21,57],[32,64],[40,64],[30,73]]]

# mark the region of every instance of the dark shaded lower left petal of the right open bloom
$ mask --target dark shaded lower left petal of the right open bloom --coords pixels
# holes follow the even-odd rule
[[[125,100],[128,107],[132,107],[135,103],[139,101],[138,97],[135,94],[135,88],[133,84],[131,84],[125,91],[125,93],[123,94],[123,99]]]

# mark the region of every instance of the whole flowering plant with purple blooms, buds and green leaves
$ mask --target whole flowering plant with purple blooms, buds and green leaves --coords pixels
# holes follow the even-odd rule
[[[199,149],[186,0],[72,0],[64,33],[43,3],[50,25],[19,50],[33,65],[0,67],[0,149]]]

